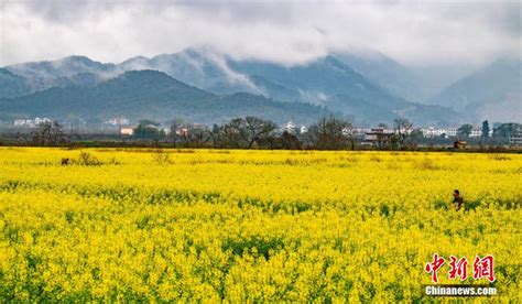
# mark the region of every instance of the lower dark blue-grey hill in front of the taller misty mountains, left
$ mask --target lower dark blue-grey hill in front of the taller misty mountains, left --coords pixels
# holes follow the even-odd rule
[[[54,87],[33,95],[1,99],[3,117],[50,117],[106,120],[124,116],[214,123],[238,116],[276,122],[312,123],[328,111],[308,104],[281,102],[252,94],[217,96],[155,70],[127,72],[95,86]]]

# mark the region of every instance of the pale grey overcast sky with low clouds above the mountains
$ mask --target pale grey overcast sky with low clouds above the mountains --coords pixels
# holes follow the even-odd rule
[[[186,47],[286,64],[347,50],[407,65],[482,64],[522,51],[519,1],[0,1],[0,65]]]

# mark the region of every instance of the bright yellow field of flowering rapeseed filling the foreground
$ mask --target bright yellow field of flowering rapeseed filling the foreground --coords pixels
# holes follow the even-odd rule
[[[492,254],[520,300],[521,176],[522,154],[0,148],[0,301],[412,301],[434,252]]]

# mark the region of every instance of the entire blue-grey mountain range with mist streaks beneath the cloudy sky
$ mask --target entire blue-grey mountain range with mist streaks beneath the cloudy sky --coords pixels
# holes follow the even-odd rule
[[[500,101],[520,106],[520,59],[497,61],[431,98],[416,75],[382,54],[337,53],[293,66],[195,50],[119,64],[69,56],[0,68],[0,119],[214,123],[255,115],[304,124],[336,113],[362,124],[405,117],[416,126],[448,126],[496,113]]]

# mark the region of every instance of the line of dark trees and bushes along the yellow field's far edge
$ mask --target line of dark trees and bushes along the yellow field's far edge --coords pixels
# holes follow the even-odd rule
[[[418,144],[447,144],[446,138],[424,138],[420,129],[415,129],[407,119],[398,118],[391,127],[380,123],[371,144],[380,150],[410,150]],[[493,127],[492,137],[489,137],[489,122],[482,123],[482,135],[470,138],[472,126],[463,124],[457,130],[458,140],[471,140],[472,144],[502,144],[511,135],[522,130],[519,123],[501,123]],[[160,123],[152,120],[140,120],[133,129],[131,139],[141,143],[163,143],[174,148],[222,148],[222,149],[317,149],[317,150],[356,150],[365,142],[365,134],[357,132],[352,123],[336,117],[327,116],[309,126],[306,132],[301,129],[282,130],[273,121],[259,117],[248,116],[233,118],[222,124],[211,127],[194,124],[175,119],[167,131],[160,128]],[[25,139],[23,139],[25,140]],[[29,139],[35,145],[67,144],[73,140],[66,134],[57,121],[41,123]],[[455,140],[455,139],[450,139]]]

